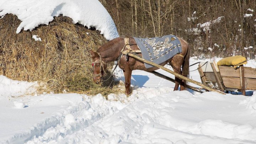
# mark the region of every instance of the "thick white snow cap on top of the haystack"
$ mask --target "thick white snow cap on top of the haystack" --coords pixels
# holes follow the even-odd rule
[[[110,14],[98,0],[1,0],[0,11],[0,17],[14,14],[22,21],[16,33],[48,25],[54,16],[62,14],[72,18],[74,23],[95,27],[107,40],[119,37]]]

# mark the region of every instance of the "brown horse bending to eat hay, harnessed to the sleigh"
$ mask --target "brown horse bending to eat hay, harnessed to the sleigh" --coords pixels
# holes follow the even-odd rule
[[[164,66],[165,64],[169,63],[176,73],[182,74],[183,76],[188,77],[190,49],[189,49],[188,43],[185,40],[181,38],[178,38],[178,39],[181,42],[182,53],[174,55],[174,57],[161,63],[160,65]],[[136,44],[136,41],[133,37],[129,38],[129,44],[132,50],[139,50]],[[96,82],[96,84],[100,84],[100,82],[102,81],[102,75],[104,74],[104,71],[107,67],[107,63],[117,60],[124,46],[125,46],[124,38],[119,37],[103,44],[103,46],[101,46],[96,52],[93,52],[91,50],[92,67],[94,69],[94,72],[92,75],[93,75],[94,82]],[[138,55],[142,57],[141,53]],[[154,71],[159,69],[157,67],[146,69],[143,62],[141,62],[140,60],[134,59],[132,57],[130,57],[127,60],[125,55],[123,55],[119,60],[118,66],[124,72],[126,94],[130,94],[130,82],[131,82],[132,70]],[[181,66],[182,66],[182,71],[181,71]],[[175,77],[174,90],[178,90],[179,84],[181,85],[180,90],[186,89],[186,81]]]

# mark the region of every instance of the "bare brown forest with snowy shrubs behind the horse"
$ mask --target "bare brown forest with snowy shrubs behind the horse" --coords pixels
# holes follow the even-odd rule
[[[198,58],[256,59],[255,0],[100,0],[122,37],[174,34]]]

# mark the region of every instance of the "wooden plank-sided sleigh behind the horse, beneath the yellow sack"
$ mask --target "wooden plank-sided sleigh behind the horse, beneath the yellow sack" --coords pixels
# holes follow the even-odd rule
[[[256,90],[256,69],[239,66],[217,66],[214,62],[201,62],[198,72],[203,84],[228,93],[229,91]]]

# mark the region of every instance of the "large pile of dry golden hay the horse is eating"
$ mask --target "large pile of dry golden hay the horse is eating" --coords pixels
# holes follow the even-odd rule
[[[113,86],[113,79],[106,82],[105,87],[92,81],[90,50],[107,42],[99,31],[59,16],[48,26],[16,34],[20,22],[12,14],[0,19],[0,75],[14,80],[39,81],[41,92],[115,93],[116,89],[106,87]],[[33,35],[42,41],[35,41]]]

